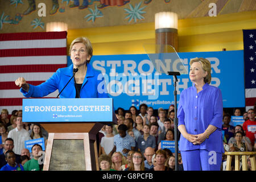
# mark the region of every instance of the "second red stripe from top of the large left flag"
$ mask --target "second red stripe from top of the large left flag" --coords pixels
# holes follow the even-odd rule
[[[1,49],[0,57],[17,56],[61,56],[67,55],[66,47],[57,48],[28,48],[28,49]]]

